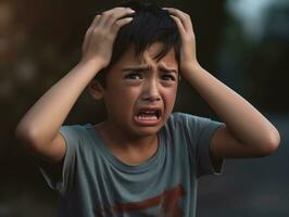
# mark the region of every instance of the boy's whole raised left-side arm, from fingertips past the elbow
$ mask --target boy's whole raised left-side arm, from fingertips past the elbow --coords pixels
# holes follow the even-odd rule
[[[59,129],[72,106],[96,74],[111,59],[118,29],[131,21],[130,9],[115,8],[97,15],[87,30],[80,62],[51,87],[18,123],[15,136],[34,154],[49,162],[60,162],[65,141]]]

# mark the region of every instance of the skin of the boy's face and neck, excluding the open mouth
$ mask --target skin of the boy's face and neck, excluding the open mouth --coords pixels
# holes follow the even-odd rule
[[[153,56],[161,48],[161,43],[153,43],[141,56],[136,56],[130,47],[108,72],[105,89],[91,84],[92,95],[100,90],[108,111],[108,120],[96,128],[111,151],[130,164],[142,162],[156,151],[156,133],[175,104],[178,64],[173,49],[156,62]],[[156,124],[135,120],[137,112],[143,107],[162,111]]]

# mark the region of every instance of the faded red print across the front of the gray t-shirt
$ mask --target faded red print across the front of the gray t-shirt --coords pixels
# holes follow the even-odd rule
[[[104,216],[114,216],[114,214],[123,214],[123,213],[135,213],[139,214],[141,210],[161,205],[160,213],[156,214],[159,217],[181,217],[184,215],[180,209],[178,202],[179,199],[185,195],[184,188],[178,184],[172,190],[164,191],[162,194],[147,199],[140,202],[126,203],[121,204],[116,203],[111,205],[110,207],[95,209],[95,214],[100,217]],[[146,216],[146,214],[143,214]],[[149,215],[147,215],[149,216]]]

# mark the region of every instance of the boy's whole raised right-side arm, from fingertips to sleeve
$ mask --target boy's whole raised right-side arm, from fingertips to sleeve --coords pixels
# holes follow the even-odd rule
[[[166,10],[181,37],[181,75],[226,124],[211,140],[213,159],[263,156],[274,152],[280,141],[278,130],[241,95],[199,65],[190,16],[176,9]]]

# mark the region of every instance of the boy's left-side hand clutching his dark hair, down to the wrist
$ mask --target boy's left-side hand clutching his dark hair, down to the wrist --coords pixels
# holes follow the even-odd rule
[[[98,14],[86,33],[81,62],[92,61],[101,64],[101,68],[106,67],[118,29],[133,20],[124,16],[131,13],[134,11],[129,8],[114,8]]]

